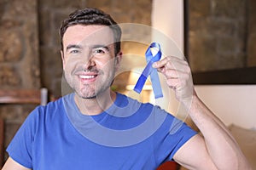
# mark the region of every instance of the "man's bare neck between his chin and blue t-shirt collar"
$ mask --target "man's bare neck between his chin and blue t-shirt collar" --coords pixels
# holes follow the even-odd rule
[[[74,100],[76,105],[79,107],[79,111],[84,115],[99,115],[102,111],[108,109],[110,105],[113,104],[113,101],[116,99],[116,94],[107,90],[106,93],[99,94],[94,99],[83,99],[79,97],[78,94],[75,94]]]

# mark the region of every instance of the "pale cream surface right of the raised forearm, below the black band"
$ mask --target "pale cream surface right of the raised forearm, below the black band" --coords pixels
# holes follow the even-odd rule
[[[227,125],[256,128],[256,85],[196,86],[204,103]]]

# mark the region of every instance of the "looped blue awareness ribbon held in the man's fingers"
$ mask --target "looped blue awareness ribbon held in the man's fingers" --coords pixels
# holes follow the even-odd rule
[[[158,52],[157,54],[152,54],[151,52],[151,48],[157,48]],[[148,78],[148,76],[150,75],[150,79],[152,82],[152,88],[154,91],[154,98],[158,99],[163,97],[163,93],[162,93],[162,89],[160,86],[160,79],[157,73],[157,70],[155,68],[152,67],[153,63],[155,61],[159,61],[161,58],[161,50],[160,50],[160,44],[157,42],[152,42],[150,44],[150,46],[148,47],[147,51],[146,51],[146,60],[147,60],[147,65],[145,67],[145,69],[143,70],[143,73],[141,74],[141,76],[139,77],[135,87],[134,87],[134,91],[136,91],[138,94],[140,94],[143,90],[143,86]]]

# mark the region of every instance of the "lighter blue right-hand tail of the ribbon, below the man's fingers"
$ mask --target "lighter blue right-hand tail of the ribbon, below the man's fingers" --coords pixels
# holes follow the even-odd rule
[[[162,98],[163,93],[161,89],[160,79],[156,69],[153,69],[150,73],[150,79],[152,82],[152,88],[154,92],[154,99]]]

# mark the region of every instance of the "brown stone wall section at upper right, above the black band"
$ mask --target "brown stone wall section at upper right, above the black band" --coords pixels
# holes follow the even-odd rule
[[[193,71],[256,66],[253,0],[189,1],[189,62]]]

